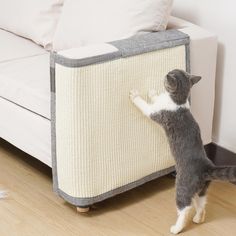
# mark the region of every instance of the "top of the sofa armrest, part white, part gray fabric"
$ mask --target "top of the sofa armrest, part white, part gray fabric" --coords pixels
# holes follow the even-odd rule
[[[88,60],[86,63],[93,64],[95,62],[103,62],[104,60],[109,61],[121,57],[125,58],[186,44],[189,44],[189,36],[187,34],[170,29],[167,31],[136,35],[131,38],[109,43],[91,44],[80,48],[63,50],[53,53],[52,58],[55,58],[59,64],[66,63],[67,66],[72,67],[72,64],[84,66],[82,61],[86,61],[87,58],[92,60]],[[106,55],[110,57],[106,57]],[[80,64],[80,62],[82,63]],[[68,63],[72,64],[70,65]]]

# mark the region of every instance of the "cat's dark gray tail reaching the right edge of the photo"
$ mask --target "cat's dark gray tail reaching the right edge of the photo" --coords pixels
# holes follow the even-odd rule
[[[208,175],[209,180],[236,182],[236,166],[215,166]]]

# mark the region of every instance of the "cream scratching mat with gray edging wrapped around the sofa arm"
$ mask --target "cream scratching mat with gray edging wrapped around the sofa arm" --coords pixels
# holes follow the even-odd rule
[[[174,170],[164,130],[129,100],[189,70],[189,37],[150,33],[51,55],[54,190],[87,206]]]

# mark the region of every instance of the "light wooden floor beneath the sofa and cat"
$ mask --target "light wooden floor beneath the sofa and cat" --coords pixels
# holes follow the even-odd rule
[[[146,236],[171,235],[175,222],[174,180],[160,178],[76,213],[52,192],[51,171],[0,141],[0,236]],[[214,183],[206,223],[190,222],[182,235],[236,235],[236,186]]]

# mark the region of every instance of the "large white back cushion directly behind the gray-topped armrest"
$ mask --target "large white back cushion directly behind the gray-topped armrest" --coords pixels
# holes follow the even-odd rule
[[[55,51],[165,30],[173,0],[66,0]]]

